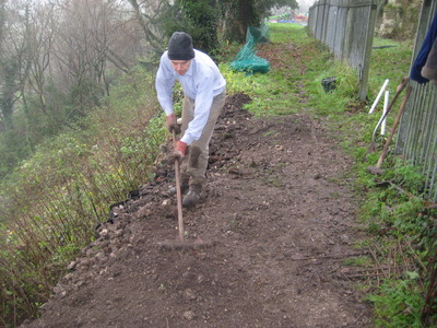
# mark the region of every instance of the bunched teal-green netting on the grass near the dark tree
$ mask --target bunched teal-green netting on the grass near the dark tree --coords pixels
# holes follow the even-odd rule
[[[231,62],[231,69],[247,73],[267,73],[269,71],[269,61],[256,55],[256,44],[267,43],[269,40],[269,26],[265,26],[262,28],[248,27],[246,44]]]

